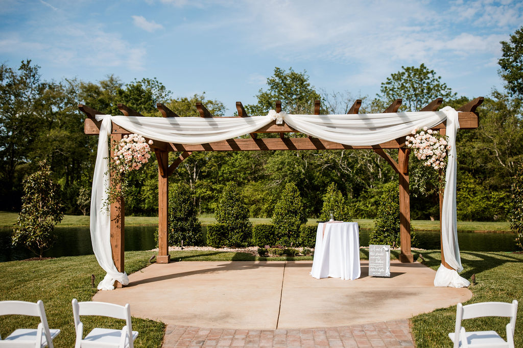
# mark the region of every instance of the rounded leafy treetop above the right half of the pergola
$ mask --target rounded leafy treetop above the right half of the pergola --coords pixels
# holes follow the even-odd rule
[[[400,111],[418,111],[436,98],[450,100],[456,97],[456,93],[452,93],[446,83],[441,82],[441,76],[437,76],[436,71],[429,70],[425,64],[422,63],[419,68],[401,68],[381,83],[381,94],[377,95],[381,101],[381,111],[397,98],[403,99]]]

